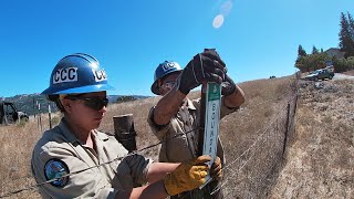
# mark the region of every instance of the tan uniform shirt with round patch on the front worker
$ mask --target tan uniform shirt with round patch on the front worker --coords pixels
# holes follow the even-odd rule
[[[69,172],[75,172],[128,154],[114,136],[94,130],[93,139],[96,150],[77,140],[63,121],[55,128],[46,130],[32,154],[31,167],[37,182],[48,180],[45,168],[53,160],[64,163]],[[40,187],[40,193],[43,198],[114,198],[119,190],[146,182],[150,164],[150,159],[140,155],[127,156],[69,176],[63,186],[45,184]],[[51,166],[55,169],[55,165]]]

